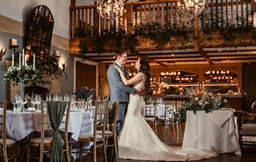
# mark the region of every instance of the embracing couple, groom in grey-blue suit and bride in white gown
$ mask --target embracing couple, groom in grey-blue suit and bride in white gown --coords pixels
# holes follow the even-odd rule
[[[144,120],[143,93],[150,90],[150,66],[145,58],[137,59],[137,74],[128,79],[123,68],[127,54],[116,51],[116,61],[109,67],[107,76],[111,89],[109,100],[119,100],[117,133],[119,157],[133,160],[186,161],[215,157],[216,154],[203,150],[180,150],[161,142]],[[130,100],[128,101],[128,95]],[[126,115],[125,115],[126,114]],[[125,117],[126,116],[126,117]]]

